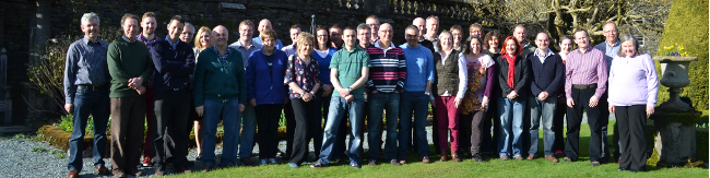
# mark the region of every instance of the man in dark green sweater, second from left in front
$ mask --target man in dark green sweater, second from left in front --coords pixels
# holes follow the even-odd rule
[[[155,69],[147,47],[135,40],[139,17],[121,17],[123,36],[108,46],[108,73],[111,75],[111,164],[114,177],[143,176],[138,171],[145,122],[144,84]]]

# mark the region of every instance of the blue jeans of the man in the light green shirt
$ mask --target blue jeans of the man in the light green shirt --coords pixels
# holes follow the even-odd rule
[[[351,126],[351,140],[350,149],[347,150],[347,156],[350,157],[351,164],[359,164],[360,162],[360,127],[363,127],[363,105],[365,99],[355,99],[353,102],[345,100],[344,97],[331,97],[330,108],[328,109],[328,121],[326,122],[326,128],[323,131],[323,146],[320,151],[318,162],[323,165],[329,165],[332,157],[331,152],[335,145],[335,137],[338,134],[338,129],[340,129],[340,122],[348,114],[350,116],[350,126]]]

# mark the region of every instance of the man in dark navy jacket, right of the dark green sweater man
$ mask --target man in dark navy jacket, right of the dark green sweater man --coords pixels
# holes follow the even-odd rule
[[[188,117],[190,116],[190,74],[194,71],[194,54],[189,44],[180,41],[185,21],[175,15],[167,25],[165,40],[153,44],[151,57],[155,64],[153,92],[155,119],[153,122],[153,164],[155,176],[165,175],[166,153],[174,158],[175,173],[187,173]],[[169,129],[169,131],[168,131]],[[166,133],[169,132],[169,137]],[[171,141],[169,141],[171,140]],[[174,146],[164,144],[173,142]]]

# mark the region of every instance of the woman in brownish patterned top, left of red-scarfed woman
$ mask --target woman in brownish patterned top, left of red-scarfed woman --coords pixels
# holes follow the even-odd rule
[[[466,59],[469,83],[461,107],[462,147],[471,149],[474,161],[483,162],[481,156],[481,130],[483,118],[488,110],[490,90],[496,76],[496,62],[490,56],[483,54],[483,40],[471,36],[464,43],[463,57]],[[470,138],[469,138],[470,137]],[[469,142],[470,144],[466,144]]]

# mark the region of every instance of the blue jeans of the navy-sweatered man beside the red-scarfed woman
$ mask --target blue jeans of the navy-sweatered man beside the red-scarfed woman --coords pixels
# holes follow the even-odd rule
[[[555,120],[555,107],[557,107],[557,96],[549,96],[545,100],[540,100],[535,96],[528,99],[530,106],[530,150],[528,154],[536,155],[537,140],[540,139],[540,120],[543,121],[543,132],[545,142],[545,156],[555,156],[553,144],[555,143],[555,131],[553,130],[553,120]],[[542,118],[541,118],[542,117]]]

